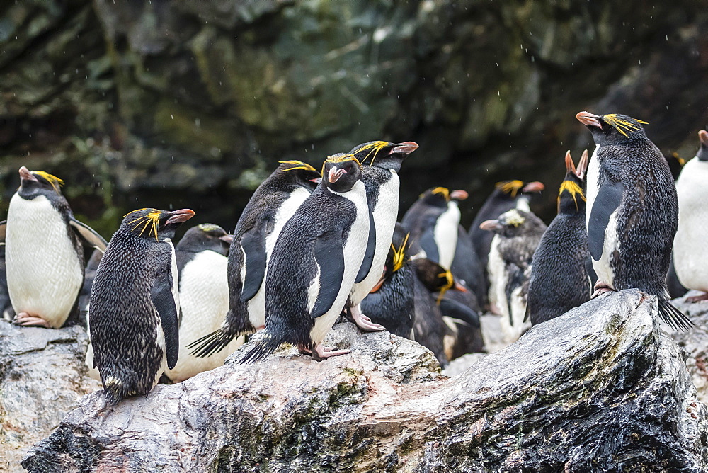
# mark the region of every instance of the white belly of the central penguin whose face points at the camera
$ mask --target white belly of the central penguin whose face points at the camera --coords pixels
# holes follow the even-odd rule
[[[366,243],[369,239],[369,207],[364,183],[357,181],[350,192],[337,194],[354,203],[356,218],[349,230],[347,242],[344,244],[344,276],[337,297],[329,311],[321,317],[317,317],[310,329],[310,341],[315,345],[322,342],[341,314],[364,259]],[[319,281],[316,284],[319,285]]]

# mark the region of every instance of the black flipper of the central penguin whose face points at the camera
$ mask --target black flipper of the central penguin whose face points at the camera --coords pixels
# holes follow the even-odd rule
[[[319,265],[319,293],[310,317],[316,319],[331,309],[344,279],[344,249],[341,234],[326,232],[316,239],[314,258]]]

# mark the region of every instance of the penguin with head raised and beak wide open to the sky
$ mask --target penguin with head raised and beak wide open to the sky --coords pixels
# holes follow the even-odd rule
[[[533,255],[527,312],[531,324],[565,314],[590,300],[588,232],[585,222],[585,171],[588,152],[573,164],[566,153],[566,178],[558,194],[558,215],[543,234]]]

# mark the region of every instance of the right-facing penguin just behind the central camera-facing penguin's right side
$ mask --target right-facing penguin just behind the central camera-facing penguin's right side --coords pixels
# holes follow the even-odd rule
[[[350,154],[362,164],[361,180],[369,205],[369,239],[347,306],[355,323],[367,331],[383,330],[362,314],[360,303],[381,278],[398,219],[401,163],[418,149],[414,142],[375,141],[360,144]]]

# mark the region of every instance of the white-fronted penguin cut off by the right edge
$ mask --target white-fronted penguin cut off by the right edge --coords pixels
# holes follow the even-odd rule
[[[704,294],[687,302],[708,299],[708,132],[698,132],[701,147],[695,158],[683,166],[678,181],[678,231],[673,241],[673,258],[681,284]]]

